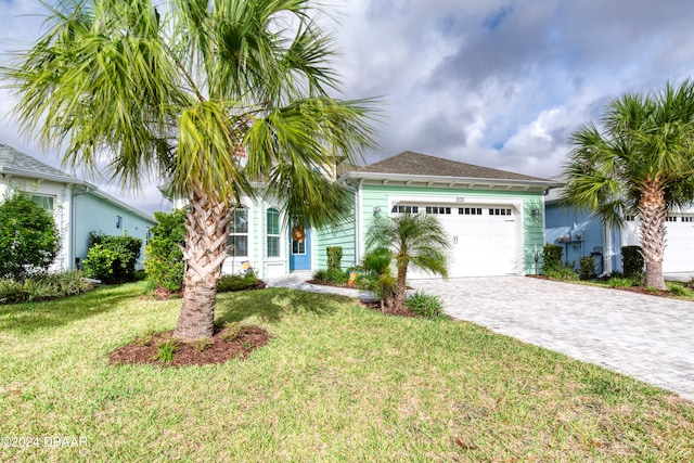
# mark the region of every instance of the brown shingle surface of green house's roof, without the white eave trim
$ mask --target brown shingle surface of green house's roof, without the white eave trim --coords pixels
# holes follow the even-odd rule
[[[455,177],[466,179],[493,179],[493,180],[525,180],[545,181],[538,177],[524,176],[520,173],[507,172],[505,170],[492,169],[489,167],[476,166],[474,164],[459,163],[457,160],[444,159],[442,157],[429,156],[411,151],[403,151],[400,154],[378,160],[377,163],[357,169],[355,172],[371,173],[393,173],[408,176],[427,177]]]

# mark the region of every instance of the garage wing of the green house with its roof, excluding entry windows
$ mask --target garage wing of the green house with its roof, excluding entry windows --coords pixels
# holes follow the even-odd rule
[[[358,263],[376,218],[410,213],[436,215],[448,232],[450,276],[535,273],[550,180],[403,152],[339,181],[355,193],[354,220],[318,233],[316,268],[326,246],[343,247],[344,267]]]

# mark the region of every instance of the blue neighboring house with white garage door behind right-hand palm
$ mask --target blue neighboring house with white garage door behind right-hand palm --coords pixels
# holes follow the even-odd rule
[[[593,256],[599,274],[621,271],[621,246],[640,245],[639,221],[626,217],[622,229],[605,227],[591,211],[563,206],[560,189],[552,189],[545,197],[545,240],[564,247],[564,261],[575,262]],[[672,211],[666,219],[663,272],[694,271],[694,209]]]

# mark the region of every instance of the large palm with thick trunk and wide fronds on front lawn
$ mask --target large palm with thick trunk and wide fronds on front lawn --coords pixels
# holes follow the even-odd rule
[[[124,185],[154,177],[188,198],[176,336],[213,334],[227,226],[243,194],[284,198],[287,220],[339,219],[318,170],[372,146],[373,101],[340,101],[332,40],[308,0],[63,0],[1,72],[15,115],[64,164]],[[48,2],[47,2],[48,4]],[[245,166],[240,151],[247,156]]]

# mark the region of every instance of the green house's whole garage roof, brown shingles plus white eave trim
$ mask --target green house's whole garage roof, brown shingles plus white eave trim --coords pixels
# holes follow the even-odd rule
[[[538,177],[492,169],[474,164],[460,163],[442,157],[404,151],[395,156],[357,168],[345,179],[424,182],[451,187],[506,187],[547,189],[555,182]]]

